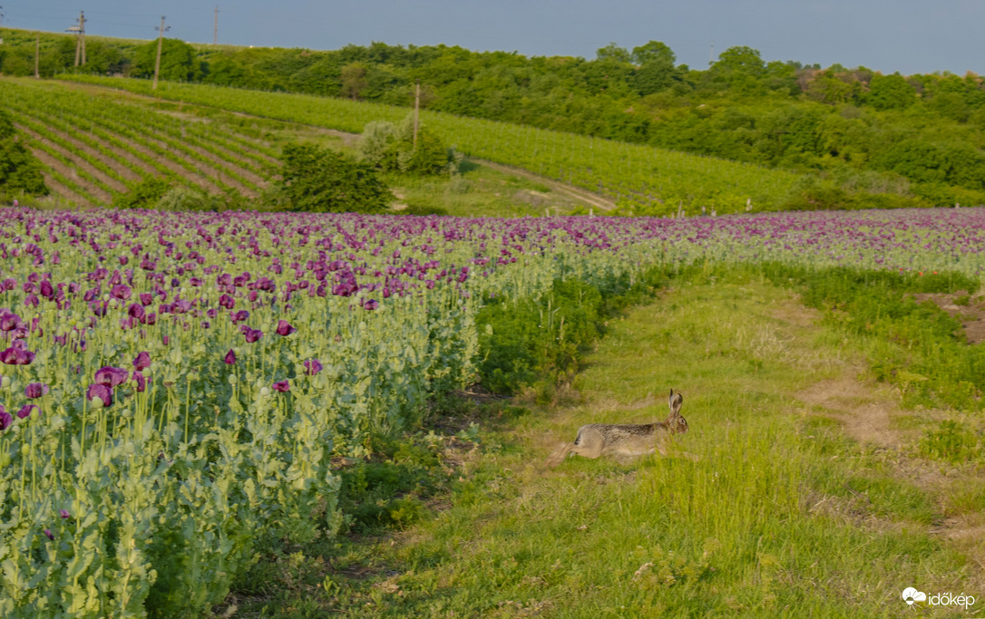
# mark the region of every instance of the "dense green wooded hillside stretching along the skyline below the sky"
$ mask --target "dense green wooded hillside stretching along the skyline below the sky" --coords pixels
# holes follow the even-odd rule
[[[28,75],[33,36],[4,32],[14,45],[0,51],[0,71]],[[100,39],[80,69],[72,67],[70,37],[45,34],[44,41],[43,75],[153,73],[153,41]],[[165,39],[162,77],[405,107],[420,82],[422,103],[433,111],[813,174],[793,208],[866,206],[866,193],[923,205],[985,203],[985,84],[974,74],[821,69],[767,61],[742,46],[697,70],[677,65],[659,41],[610,45],[585,59],[444,45],[312,51]]]

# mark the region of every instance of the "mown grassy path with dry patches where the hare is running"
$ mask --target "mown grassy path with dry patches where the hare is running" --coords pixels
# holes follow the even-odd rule
[[[920,616],[980,615],[985,487],[910,456],[925,413],[790,291],[679,286],[613,321],[581,402],[485,432],[438,516],[345,541],[286,615],[914,616],[908,587],[978,599]],[[583,423],[662,419],[670,388],[699,462],[543,466]]]

